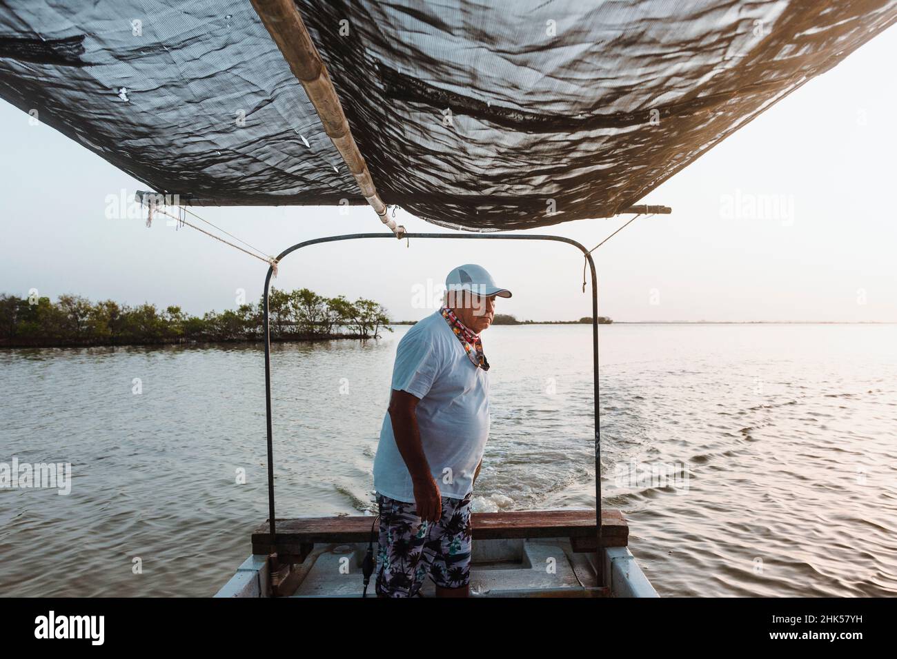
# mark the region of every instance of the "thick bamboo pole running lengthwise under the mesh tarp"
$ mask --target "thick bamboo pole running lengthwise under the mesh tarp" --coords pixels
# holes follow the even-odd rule
[[[252,6],[255,7],[258,17],[265,24],[277,48],[280,48],[292,74],[302,83],[311,104],[318,112],[327,136],[355,177],[361,195],[364,195],[368,204],[377,212],[380,221],[396,234],[396,238],[402,238],[405,227],[396,225],[396,221],[388,218],[387,205],[377,194],[368,164],[358,150],[349,122],[346,121],[343,106],[336,96],[333,82],[330,82],[327,67],[318,55],[318,48],[315,48],[309,30],[305,29],[305,23],[302,22],[293,0],[252,0]]]

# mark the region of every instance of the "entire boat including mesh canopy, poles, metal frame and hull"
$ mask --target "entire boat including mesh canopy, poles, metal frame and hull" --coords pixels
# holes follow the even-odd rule
[[[438,238],[565,242],[591,274],[596,507],[475,514],[471,594],[656,597],[602,505],[595,248],[509,231],[670,213],[642,200],[894,22],[897,0],[10,0],[0,97],[152,188],[147,224],[366,204],[388,229],[260,256],[268,518],[217,596],[364,594],[370,516],[275,514],[268,290],[302,247]],[[409,233],[390,207],[459,232]]]

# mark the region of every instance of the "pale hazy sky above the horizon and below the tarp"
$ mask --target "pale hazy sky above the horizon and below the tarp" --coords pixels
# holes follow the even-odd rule
[[[597,250],[599,313],[618,321],[897,322],[897,29],[780,101],[642,203],[639,218]],[[110,220],[107,198],[146,186],[0,101],[0,292],[78,293],[201,315],[261,293],[266,265],[194,230]],[[375,181],[376,182],[376,181]],[[776,217],[752,205],[778,202]],[[386,230],[368,207],[196,208],[276,254],[295,242]],[[771,210],[775,211],[775,208]],[[533,233],[594,247],[631,216],[566,222]],[[410,231],[448,231],[398,212]],[[383,303],[416,319],[420,292],[478,263],[512,290],[496,311],[537,320],[591,312],[582,256],[519,241],[370,240],[308,247],[275,284]],[[429,283],[428,283],[429,281]],[[588,289],[587,289],[588,290]]]

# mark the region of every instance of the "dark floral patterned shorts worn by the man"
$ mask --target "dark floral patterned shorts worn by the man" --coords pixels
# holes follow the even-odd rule
[[[442,498],[436,523],[417,516],[414,503],[396,501],[379,492],[377,594],[413,597],[423,578],[442,588],[462,588],[470,580],[470,499]]]

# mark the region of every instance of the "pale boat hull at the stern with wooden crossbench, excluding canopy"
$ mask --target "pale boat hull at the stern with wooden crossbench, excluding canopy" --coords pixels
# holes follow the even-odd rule
[[[474,513],[470,595],[657,597],[626,546],[623,514],[604,513],[601,551],[592,510]],[[289,568],[272,575],[267,552],[274,545],[262,525],[252,535],[252,555],[215,597],[361,597],[370,527],[370,516],[278,519],[277,549],[299,553]],[[434,594],[426,581],[421,595]]]

